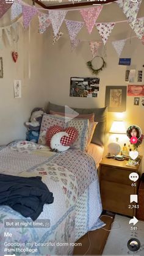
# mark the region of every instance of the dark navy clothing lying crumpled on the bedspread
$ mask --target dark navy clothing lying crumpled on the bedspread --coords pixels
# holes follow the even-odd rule
[[[45,203],[53,203],[54,197],[41,177],[18,177],[0,174],[0,205],[9,205],[24,217],[38,218]]]

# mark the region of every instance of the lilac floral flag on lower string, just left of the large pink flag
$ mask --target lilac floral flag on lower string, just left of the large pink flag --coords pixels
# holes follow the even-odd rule
[[[65,23],[68,29],[70,40],[73,41],[76,38],[79,31],[81,30],[82,26],[84,26],[84,22],[65,20]]]

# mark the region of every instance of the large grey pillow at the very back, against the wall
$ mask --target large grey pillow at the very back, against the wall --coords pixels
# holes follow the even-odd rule
[[[72,108],[74,111],[77,111],[79,114],[92,114],[95,113],[95,122],[98,122],[96,125],[95,132],[93,133],[92,143],[98,145],[104,145],[104,134],[106,131],[106,117],[107,117],[107,107],[106,108],[92,108],[92,109],[82,109],[82,108]],[[48,104],[47,113],[49,111],[65,112],[65,106],[59,106],[57,104],[50,103]]]

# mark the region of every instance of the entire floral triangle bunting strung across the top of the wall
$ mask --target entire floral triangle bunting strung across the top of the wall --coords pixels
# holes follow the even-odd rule
[[[118,7],[120,7],[123,10],[123,13],[126,15],[128,20],[114,21],[109,23],[106,23],[106,22],[96,23],[98,16],[103,10],[103,5],[99,5],[97,7],[90,7],[87,9],[84,9],[84,8],[72,9],[73,11],[78,10],[84,21],[66,20],[65,16],[67,15],[67,12],[70,12],[71,10],[64,10],[64,9],[48,10],[48,9],[37,8],[35,6],[28,5],[21,0],[15,0],[15,2],[13,2],[13,4],[10,4],[9,6],[11,7],[11,20],[15,20],[21,14],[23,15],[24,29],[27,29],[27,27],[29,27],[31,20],[35,15],[38,15],[40,34],[43,34],[43,32],[45,32],[46,29],[48,29],[48,27],[51,25],[54,33],[53,44],[56,43],[60,37],[62,37],[63,33],[60,32],[60,27],[62,26],[63,21],[65,21],[65,24],[68,29],[68,34],[70,36],[71,49],[75,49],[81,42],[81,40],[77,39],[76,37],[79,31],[81,31],[84,24],[87,27],[88,34],[92,33],[93,27],[95,26],[96,29],[98,29],[98,32],[99,32],[99,35],[101,36],[103,44],[105,45],[113,28],[115,27],[115,24],[127,22],[129,23],[129,25],[137,35],[137,38],[139,38],[143,43],[144,17],[137,18],[137,13],[139,12],[139,8],[140,8],[140,4],[142,3],[142,0],[139,0],[139,2],[132,2],[129,0],[124,0],[124,1],[118,0],[116,1],[116,3]],[[111,4],[111,3],[107,3],[107,4]],[[0,18],[1,16],[4,15],[5,12],[7,12],[8,9],[9,8],[7,7],[7,4],[4,4],[4,0],[0,0]],[[40,12],[40,10],[46,10],[48,14]],[[16,23],[17,22],[18,21],[16,21]],[[10,37],[12,36],[10,32],[11,27],[12,27],[12,24],[10,26],[7,26],[7,28],[6,27],[2,28],[2,29],[5,29],[5,34],[7,35],[7,38],[9,38],[9,42],[10,42]],[[123,47],[126,43],[126,40],[127,39],[116,40],[112,42],[112,45],[117,51],[118,56],[120,56],[121,51],[123,50]],[[0,43],[2,43],[1,28],[0,28]],[[100,45],[101,43],[98,43],[98,42],[90,42],[90,49],[92,51],[93,57],[97,53]]]

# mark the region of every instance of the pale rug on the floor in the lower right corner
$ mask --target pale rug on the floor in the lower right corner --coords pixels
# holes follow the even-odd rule
[[[137,222],[134,226],[137,227],[137,230],[131,230],[133,224],[129,224],[130,219],[118,214],[115,215],[102,255],[144,255],[144,221]],[[131,238],[137,238],[140,241],[139,251],[129,251],[127,243]]]

